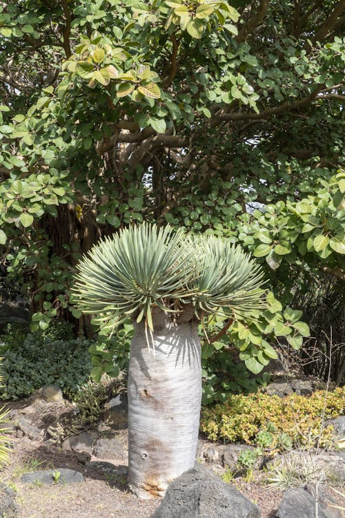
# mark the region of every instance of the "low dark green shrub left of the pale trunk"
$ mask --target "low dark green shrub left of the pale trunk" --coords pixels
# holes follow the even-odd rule
[[[12,329],[1,337],[3,387],[0,387],[0,399],[26,397],[52,383],[59,385],[66,397],[77,394],[90,377],[90,341],[55,338],[66,336],[66,329],[66,326],[60,329],[57,326],[51,334],[35,332],[26,336],[20,329]]]

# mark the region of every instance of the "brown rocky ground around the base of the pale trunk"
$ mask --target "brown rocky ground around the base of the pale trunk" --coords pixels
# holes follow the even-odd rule
[[[6,502],[12,500],[12,503],[8,504],[7,514],[1,515],[0,506],[0,517],[150,517],[160,501],[139,500],[128,491],[126,412],[121,402],[115,403],[114,412],[110,409],[97,428],[79,431],[59,443],[52,433],[59,432],[57,422],[61,421],[61,416],[66,418],[66,414],[72,416],[75,412],[72,405],[62,400],[47,403],[41,396],[12,403],[11,424],[16,437],[10,465],[1,472],[1,480],[10,488],[7,492],[1,492],[3,508]],[[121,423],[119,430],[115,430],[114,420]],[[237,457],[243,448],[246,447],[220,445],[201,438],[197,462],[235,485],[242,495],[256,503],[262,518],[298,518],[298,514],[291,517],[282,512],[277,514],[284,492],[267,487],[266,472],[259,469],[260,466],[255,466],[253,473],[232,478]],[[320,487],[323,505],[328,512],[327,518],[338,518],[342,514],[332,506],[345,506],[345,499],[339,494],[339,491],[344,493],[344,456],[341,452],[324,452],[323,455],[324,459],[317,464],[317,470],[322,473],[325,466],[329,468],[332,465],[335,473],[333,483],[331,486],[328,484],[326,492],[324,486]],[[78,472],[80,481],[72,479],[69,483],[69,472],[64,472],[65,468],[72,470],[73,477]],[[49,484],[41,481],[42,471],[48,476]]]

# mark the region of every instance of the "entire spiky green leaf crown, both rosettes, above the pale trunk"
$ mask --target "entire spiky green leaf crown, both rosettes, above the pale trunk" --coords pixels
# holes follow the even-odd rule
[[[115,327],[128,316],[149,329],[152,308],[178,314],[241,318],[262,309],[262,271],[240,247],[215,236],[193,237],[169,225],[143,223],[93,247],[78,265],[73,293],[78,309],[95,323]]]

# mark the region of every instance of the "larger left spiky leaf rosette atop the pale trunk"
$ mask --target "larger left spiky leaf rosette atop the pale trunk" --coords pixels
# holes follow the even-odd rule
[[[197,275],[194,249],[181,231],[143,223],[120,231],[92,248],[77,266],[72,289],[76,306],[97,314],[99,322],[128,316],[145,318],[152,329],[151,308],[169,311],[164,300],[190,296]],[[114,321],[114,320],[113,320]]]

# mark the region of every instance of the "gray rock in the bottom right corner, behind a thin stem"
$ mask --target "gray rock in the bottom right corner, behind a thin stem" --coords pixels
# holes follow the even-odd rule
[[[293,488],[284,493],[282,503],[277,510],[276,518],[315,518],[317,505],[318,518],[341,518],[336,508],[330,507],[333,499],[320,488],[317,499],[309,487]]]

